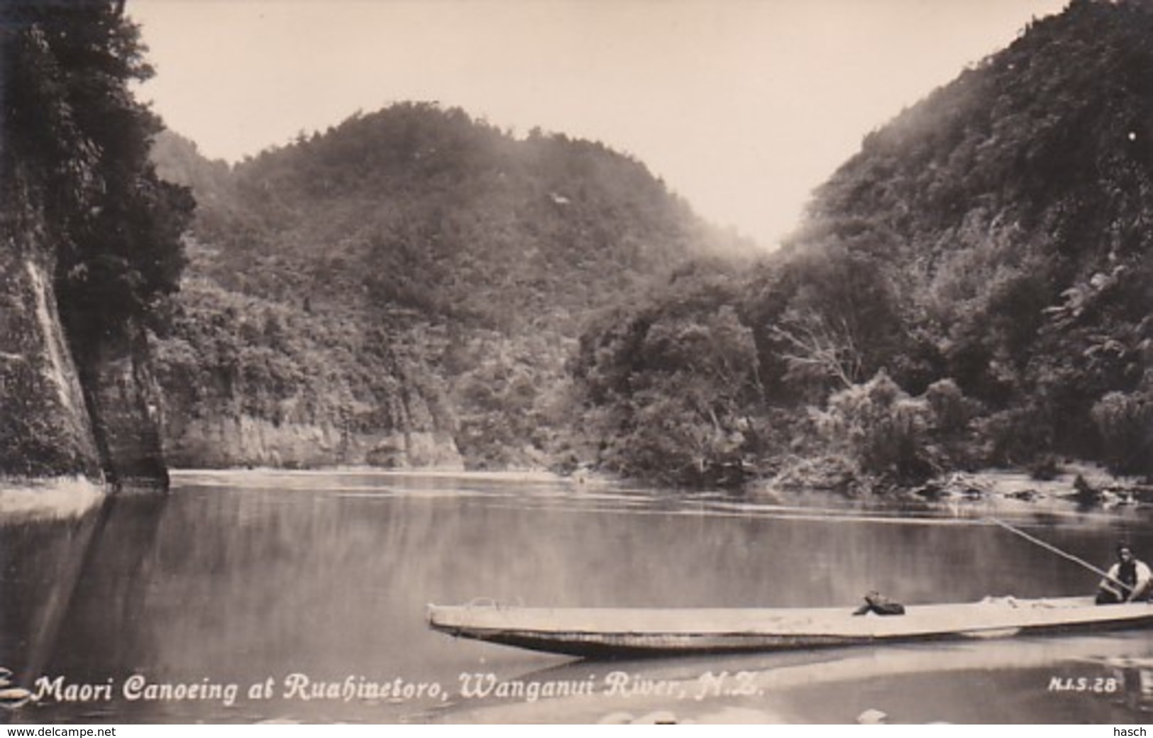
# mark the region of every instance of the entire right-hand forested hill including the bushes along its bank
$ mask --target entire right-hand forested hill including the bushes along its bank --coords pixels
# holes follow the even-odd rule
[[[821,459],[845,488],[1062,454],[1153,472],[1151,108],[1153,5],[1034,21],[868,134],[773,264],[583,338],[602,464],[785,482]],[[670,351],[710,325],[714,359]]]

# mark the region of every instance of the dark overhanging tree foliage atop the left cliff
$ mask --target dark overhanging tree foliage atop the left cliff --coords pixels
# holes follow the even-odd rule
[[[43,203],[66,334],[83,366],[179,285],[194,201],[149,160],[152,75],[122,1],[14,2],[3,17],[6,172]]]

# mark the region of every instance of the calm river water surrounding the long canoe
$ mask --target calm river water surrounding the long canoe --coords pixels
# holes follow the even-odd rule
[[[598,663],[455,640],[424,622],[427,603],[477,597],[852,608],[869,589],[906,603],[1093,590],[1094,574],[982,522],[984,504],[896,511],[532,479],[182,472],[166,497],[0,526],[0,665],[43,693],[6,717],[843,723],[874,710],[891,722],[1146,722],[1147,631]],[[1144,511],[1020,503],[995,514],[1092,562],[1107,564],[1122,536],[1153,557]],[[708,688],[718,675],[737,687]]]

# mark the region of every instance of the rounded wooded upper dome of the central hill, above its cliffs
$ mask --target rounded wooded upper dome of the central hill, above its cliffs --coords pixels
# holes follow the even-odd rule
[[[574,315],[721,243],[632,158],[563,135],[518,140],[432,104],[355,115],[231,176],[183,171],[204,210],[198,238],[220,251],[212,276],[314,307],[571,332]]]

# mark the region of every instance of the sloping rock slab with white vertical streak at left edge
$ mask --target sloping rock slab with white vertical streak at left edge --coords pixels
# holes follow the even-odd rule
[[[53,261],[35,212],[3,189],[0,213],[0,474],[100,479],[99,454],[65,339]]]

